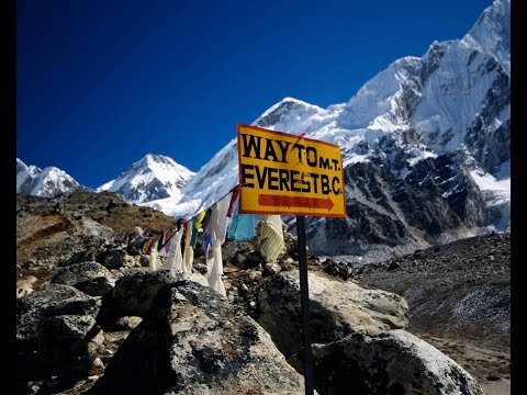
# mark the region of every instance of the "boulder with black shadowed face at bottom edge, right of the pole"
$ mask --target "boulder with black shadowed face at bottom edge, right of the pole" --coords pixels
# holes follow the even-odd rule
[[[404,330],[351,334],[314,345],[315,387],[321,394],[483,395],[478,382],[439,350]]]

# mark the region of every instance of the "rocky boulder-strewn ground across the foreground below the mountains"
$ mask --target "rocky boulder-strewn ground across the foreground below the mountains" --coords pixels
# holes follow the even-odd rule
[[[276,263],[256,242],[223,246],[223,297],[199,248],[184,281],[127,249],[134,226],[175,226],[156,211],[88,192],[19,195],[16,210],[18,393],[303,393],[288,232]],[[492,235],[368,267],[311,256],[318,394],[482,394],[509,380],[509,250]],[[503,359],[483,365],[462,347]]]

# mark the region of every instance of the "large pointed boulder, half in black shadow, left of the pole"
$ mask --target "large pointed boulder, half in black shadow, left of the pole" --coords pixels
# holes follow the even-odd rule
[[[269,335],[192,281],[162,286],[88,394],[301,394]]]

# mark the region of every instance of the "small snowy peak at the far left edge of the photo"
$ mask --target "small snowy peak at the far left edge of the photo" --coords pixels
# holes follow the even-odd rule
[[[55,198],[79,188],[81,185],[64,170],[53,166],[43,170],[36,166],[27,166],[16,158],[16,193]]]

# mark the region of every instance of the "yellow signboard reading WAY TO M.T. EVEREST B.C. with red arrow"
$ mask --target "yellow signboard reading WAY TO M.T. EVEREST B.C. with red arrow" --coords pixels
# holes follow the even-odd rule
[[[345,217],[338,146],[237,125],[239,212]]]

